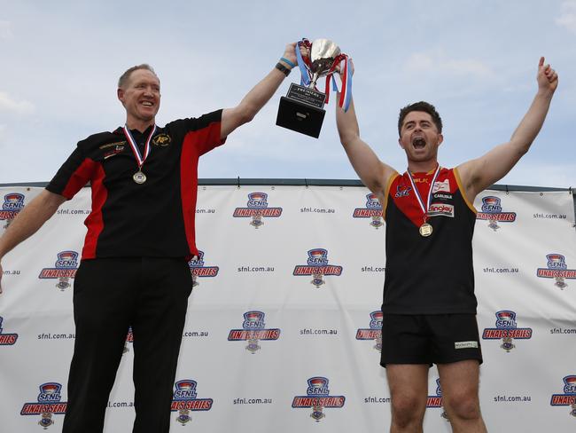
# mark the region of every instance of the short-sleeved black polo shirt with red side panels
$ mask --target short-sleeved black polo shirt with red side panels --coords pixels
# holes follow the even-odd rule
[[[46,189],[70,200],[90,182],[92,210],[84,222],[82,259],[198,255],[198,158],[224,143],[221,120],[218,110],[157,128],[141,185],[133,179],[138,164],[122,128],[80,141]],[[144,145],[151,131],[152,126],[131,132]]]

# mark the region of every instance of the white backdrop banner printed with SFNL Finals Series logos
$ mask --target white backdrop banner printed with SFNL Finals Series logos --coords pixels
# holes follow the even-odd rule
[[[0,234],[41,188],[0,188]],[[486,191],[474,235],[489,431],[576,430],[572,194]],[[90,190],[4,257],[0,428],[62,429],[74,274]],[[385,223],[358,186],[198,187],[194,276],[171,431],[385,431]],[[158,224],[163,224],[159,221]],[[417,264],[414,264],[417,266]],[[444,272],[452,272],[446,264]],[[106,290],[106,287],[102,287]],[[131,334],[105,431],[134,420]],[[435,367],[424,430],[448,432]],[[99,390],[93,390],[99,392]],[[154,390],[150,390],[154,392]]]

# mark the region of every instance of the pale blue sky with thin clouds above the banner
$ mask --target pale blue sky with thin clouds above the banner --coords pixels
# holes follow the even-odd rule
[[[343,2],[0,0],[0,183],[48,181],[76,142],[120,126],[118,76],[160,75],[157,122],[239,100],[286,43],[328,37],[354,58],[362,138],[395,169],[401,106],[427,100],[455,166],[510,138],[536,91],[541,55],[560,84],[531,151],[500,184],[576,186],[576,0]],[[335,129],[319,139],[276,127],[279,98],[200,160],[199,177],[357,178]]]

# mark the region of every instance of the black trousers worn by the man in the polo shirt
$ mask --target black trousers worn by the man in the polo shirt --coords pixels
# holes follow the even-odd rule
[[[63,433],[101,433],[128,327],[134,335],[134,433],[164,433],[183,335],[190,268],[184,258],[82,261],[74,279],[74,357]],[[118,431],[111,426],[111,431]]]

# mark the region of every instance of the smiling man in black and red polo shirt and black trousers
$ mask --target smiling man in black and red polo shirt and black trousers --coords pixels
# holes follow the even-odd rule
[[[74,282],[74,357],[64,433],[101,432],[122,348],[132,327],[134,432],[167,432],[172,387],[198,255],[194,235],[198,157],[272,97],[296,63],[295,43],[233,108],[155,123],[160,80],[148,65],[118,83],[126,124],[78,143],[46,190],[0,239],[0,259],[90,182],[92,210]],[[0,266],[0,278],[2,267]],[[151,392],[152,391],[152,392]]]

